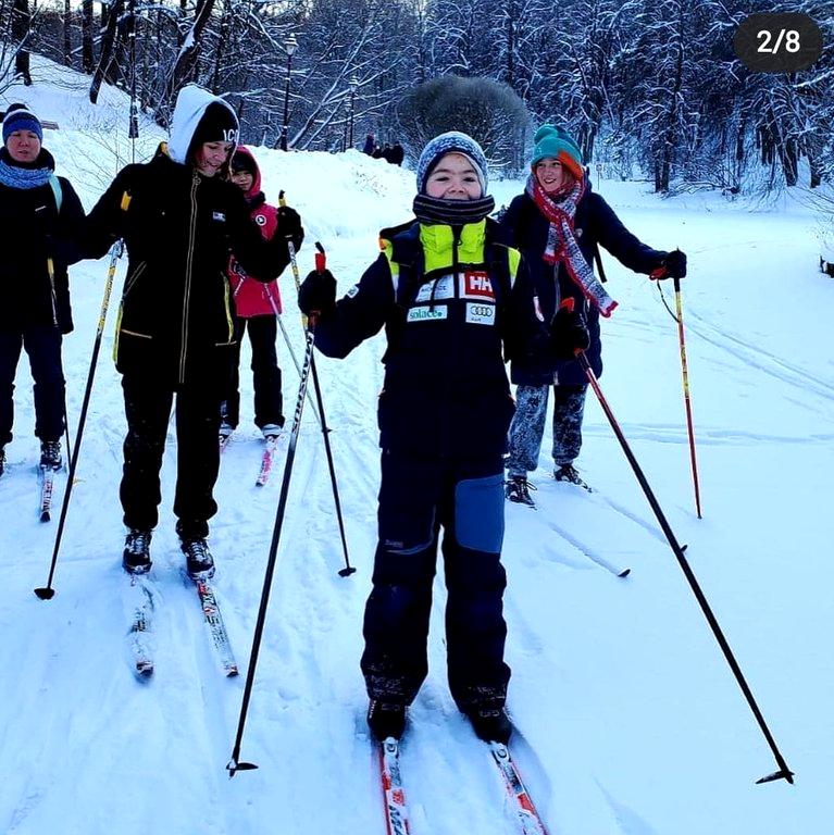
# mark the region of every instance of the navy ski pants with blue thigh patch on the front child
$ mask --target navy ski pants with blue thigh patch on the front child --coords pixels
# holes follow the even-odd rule
[[[428,672],[426,643],[439,529],[449,688],[458,707],[501,707],[510,668],[500,562],[503,462],[382,456],[373,590],[362,672],[372,699],[410,703]]]

